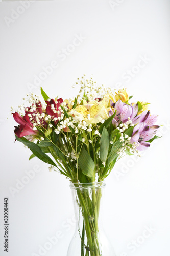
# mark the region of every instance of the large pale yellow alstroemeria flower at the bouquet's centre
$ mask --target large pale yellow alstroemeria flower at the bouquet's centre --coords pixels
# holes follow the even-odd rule
[[[109,118],[108,112],[110,108],[105,108],[105,105],[108,105],[107,102],[107,98],[104,98],[100,102],[94,100],[89,103],[83,100],[83,105],[76,107],[74,115],[81,116],[82,120],[89,124],[99,123],[102,119]]]

